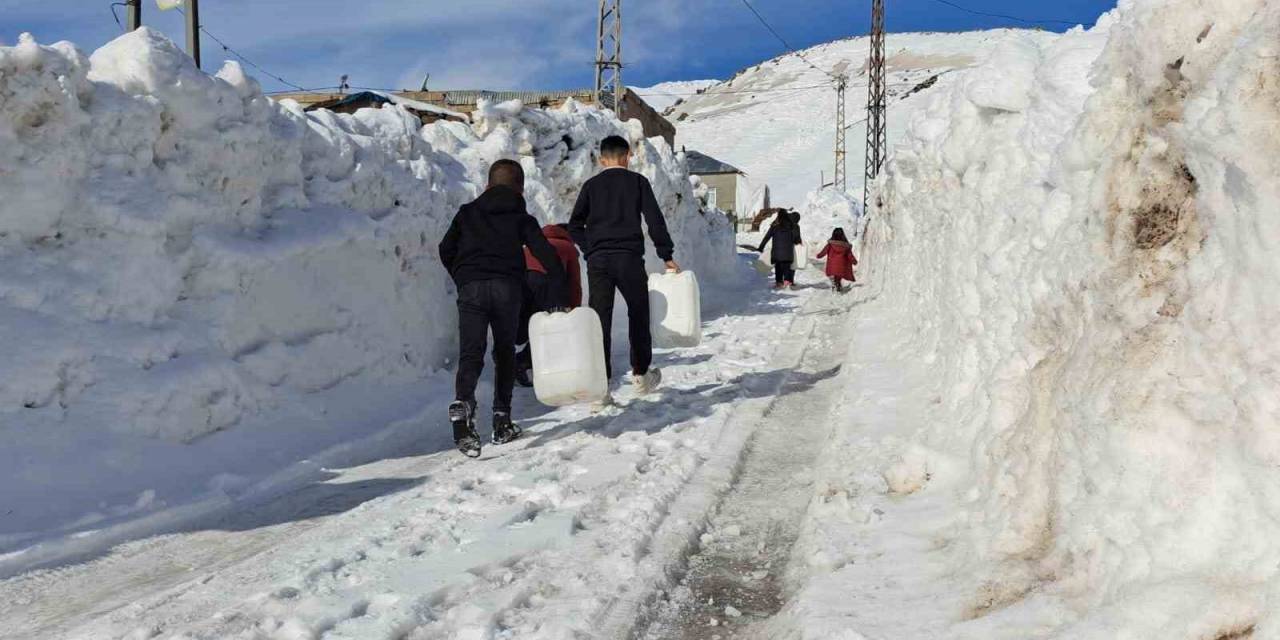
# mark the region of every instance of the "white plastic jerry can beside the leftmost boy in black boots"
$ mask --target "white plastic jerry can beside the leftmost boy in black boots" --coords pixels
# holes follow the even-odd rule
[[[568,314],[534,314],[529,320],[534,396],[552,407],[598,402],[609,393],[604,332],[590,307]]]

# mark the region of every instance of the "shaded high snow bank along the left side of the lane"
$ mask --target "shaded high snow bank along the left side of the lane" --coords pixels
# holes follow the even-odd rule
[[[424,128],[394,106],[273,102],[237,64],[206,76],[150,29],[90,58],[29,36],[0,47],[0,483],[19,503],[0,535],[134,504],[147,485],[122,479],[160,481],[165,447],[232,428],[274,443],[285,415],[352,429],[355,389],[412,389],[452,355],[435,247],[488,164],[518,157],[531,210],[564,220],[614,133],[636,143],[676,257],[733,278],[727,220],[698,212],[664,142],[608,113],[512,102]]]

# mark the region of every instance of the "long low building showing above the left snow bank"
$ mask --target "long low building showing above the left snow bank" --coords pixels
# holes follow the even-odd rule
[[[506,102],[520,100],[525,106],[535,109],[552,109],[563,105],[568,100],[575,100],[586,105],[595,104],[595,92],[591,90],[571,91],[361,91],[358,93],[278,93],[276,100],[296,100],[307,111],[315,109],[329,109],[338,113],[355,113],[364,108],[378,108],[394,102],[422,118],[424,124],[448,120],[470,120],[470,114],[476,110],[481,100],[490,102]],[[676,125],[655,111],[635,91],[630,88],[622,96],[622,120],[640,120],[644,134],[648,138],[660,137],[668,145],[676,145]]]

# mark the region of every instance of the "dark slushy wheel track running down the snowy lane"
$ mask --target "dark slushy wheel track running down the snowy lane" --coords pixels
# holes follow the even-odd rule
[[[858,291],[858,289],[855,289]],[[658,607],[648,640],[741,636],[777,614],[783,575],[813,495],[813,471],[829,438],[847,353],[842,307],[813,314],[813,338],[756,430],[741,472],[701,536],[689,575]]]

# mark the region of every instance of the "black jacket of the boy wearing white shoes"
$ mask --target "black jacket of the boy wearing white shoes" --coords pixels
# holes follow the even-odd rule
[[[626,169],[605,169],[586,180],[577,195],[568,230],[588,257],[595,253],[644,255],[640,218],[649,225],[649,237],[658,257],[671,260],[676,251],[667,232],[658,198],[649,179]]]

